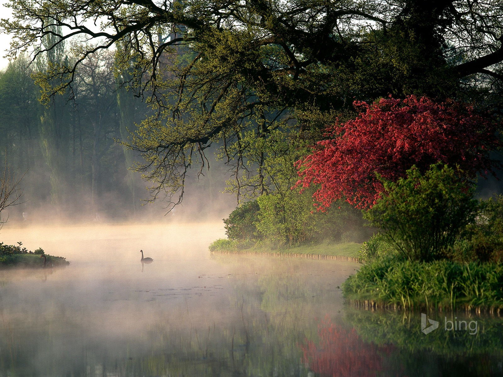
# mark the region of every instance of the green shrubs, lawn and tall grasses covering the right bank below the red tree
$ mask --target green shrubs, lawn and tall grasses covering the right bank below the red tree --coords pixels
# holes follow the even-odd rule
[[[425,174],[413,167],[396,183],[382,180],[381,199],[363,213],[368,224],[382,233],[362,244],[351,241],[361,239],[363,233],[356,227],[352,234],[345,233],[344,216],[333,217],[333,212],[322,230],[301,233],[306,227],[294,224],[268,235],[261,229],[271,221],[264,221],[268,213],[259,201],[231,213],[224,220],[228,239],[214,241],[209,249],[212,253],[340,256],[361,261],[364,264],[341,287],[346,301],[356,308],[499,316],[503,309],[503,196],[477,201],[458,174],[447,165],[434,164]],[[337,237],[326,239],[329,224],[337,229]],[[306,236],[309,243],[295,239],[296,234]],[[289,244],[288,239],[294,242]]]

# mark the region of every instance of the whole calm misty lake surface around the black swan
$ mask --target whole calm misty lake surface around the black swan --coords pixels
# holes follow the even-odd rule
[[[425,335],[421,313],[344,304],[358,264],[211,256],[221,228],[5,227],[71,264],[0,271],[0,376],[503,375],[500,318]]]

